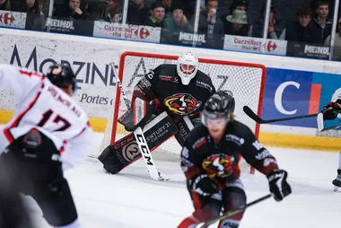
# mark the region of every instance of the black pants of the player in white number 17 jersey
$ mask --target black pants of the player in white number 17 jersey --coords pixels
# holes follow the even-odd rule
[[[55,145],[46,136],[42,136],[42,147],[50,148],[47,153],[56,150]],[[33,197],[41,208],[48,224],[64,226],[77,219],[74,199],[68,183],[63,176],[61,162],[37,162],[33,158],[23,158],[18,148],[22,137],[8,147],[8,153],[0,157],[0,175],[8,188],[13,192],[22,192]]]

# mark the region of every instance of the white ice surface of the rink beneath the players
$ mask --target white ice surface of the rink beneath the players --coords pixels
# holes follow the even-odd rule
[[[98,138],[99,139],[99,138]],[[96,140],[96,145],[101,144]],[[288,171],[293,194],[277,203],[273,198],[250,207],[240,228],[341,227],[341,189],[333,191],[338,153],[268,148],[280,168]],[[165,173],[180,173],[179,163],[155,161]],[[86,160],[66,172],[80,221],[86,228],[175,228],[193,212],[184,182],[151,180],[138,161],[118,175],[102,171],[101,162]],[[268,194],[267,179],[243,172],[248,202]],[[27,198],[31,202],[31,198]],[[39,207],[31,206],[37,227],[49,227]],[[212,226],[214,227],[214,226]]]

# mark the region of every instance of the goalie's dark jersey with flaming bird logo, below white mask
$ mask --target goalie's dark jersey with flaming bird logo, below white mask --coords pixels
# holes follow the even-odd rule
[[[212,92],[215,92],[214,85],[205,73],[198,70],[190,83],[184,85],[176,65],[160,65],[136,84],[133,101],[136,97],[155,101],[160,112],[167,111],[177,122],[184,115],[197,118]]]

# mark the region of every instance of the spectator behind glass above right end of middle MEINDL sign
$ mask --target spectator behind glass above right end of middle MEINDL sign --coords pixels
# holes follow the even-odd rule
[[[218,8],[218,0],[205,0],[205,11],[199,15],[198,33],[207,34],[207,38],[213,38],[215,35],[224,34],[223,22],[216,17],[216,10]],[[194,24],[194,18],[192,23]]]

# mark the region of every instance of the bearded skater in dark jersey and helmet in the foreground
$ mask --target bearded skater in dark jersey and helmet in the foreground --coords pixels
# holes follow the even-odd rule
[[[195,127],[181,152],[181,167],[195,211],[179,228],[192,227],[245,206],[240,181],[239,156],[269,181],[276,201],[291,194],[287,172],[278,169],[275,157],[258,143],[249,127],[233,119],[235,101],[229,94],[213,94],[205,102],[202,125]],[[243,213],[222,220],[218,227],[237,228]]]

